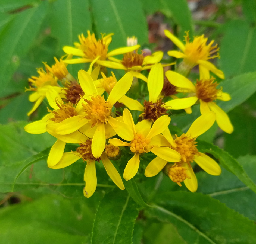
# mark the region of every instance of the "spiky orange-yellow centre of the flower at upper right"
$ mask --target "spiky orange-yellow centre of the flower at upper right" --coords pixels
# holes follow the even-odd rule
[[[219,47],[218,44],[213,46],[214,40],[207,44],[208,38],[204,35],[194,37],[192,42],[189,42],[189,34],[186,31],[185,37],[185,58],[184,61],[189,65],[194,66],[198,60],[208,60],[219,57]]]

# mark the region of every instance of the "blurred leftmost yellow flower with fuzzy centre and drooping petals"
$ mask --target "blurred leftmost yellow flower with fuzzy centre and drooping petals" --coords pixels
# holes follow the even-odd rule
[[[63,88],[58,86],[57,78],[49,72],[47,67],[45,68],[46,72],[43,68],[39,68],[37,69],[39,76],[32,76],[28,79],[28,81],[32,83],[32,86],[30,86],[29,89],[26,89],[26,91],[35,91],[29,96],[29,101],[35,102],[35,104],[27,113],[28,116],[39,107],[45,97],[47,98],[49,105],[54,109],[57,109],[56,99],[61,101],[60,95],[62,95]]]

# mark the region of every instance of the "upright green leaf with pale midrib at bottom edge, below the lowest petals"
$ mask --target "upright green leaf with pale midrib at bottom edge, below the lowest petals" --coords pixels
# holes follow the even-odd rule
[[[96,213],[92,243],[132,243],[137,207],[126,191],[117,189],[106,194]]]

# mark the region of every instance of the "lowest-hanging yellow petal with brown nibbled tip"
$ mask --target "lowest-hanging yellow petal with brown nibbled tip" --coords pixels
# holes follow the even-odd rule
[[[83,194],[85,197],[89,198],[95,192],[97,187],[95,161],[86,164],[84,181],[85,188],[83,189]]]

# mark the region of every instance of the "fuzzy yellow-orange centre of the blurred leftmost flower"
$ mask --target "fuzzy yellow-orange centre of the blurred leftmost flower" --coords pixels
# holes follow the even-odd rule
[[[47,67],[46,67],[47,68]],[[43,70],[43,68],[38,68],[37,72],[39,74],[38,77],[32,76],[31,78],[28,79],[29,82],[31,82],[33,87],[30,87],[27,90],[30,91],[35,91],[36,88],[50,85],[50,86],[57,86],[57,80],[53,77],[51,73],[49,73],[48,69]]]

